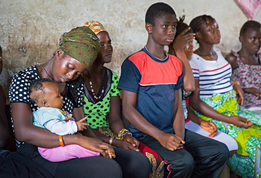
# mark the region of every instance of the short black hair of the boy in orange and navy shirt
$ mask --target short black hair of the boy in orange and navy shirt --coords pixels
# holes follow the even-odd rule
[[[146,12],[145,23],[150,23],[152,26],[155,26],[155,20],[167,14],[176,15],[170,5],[163,2],[152,4]]]

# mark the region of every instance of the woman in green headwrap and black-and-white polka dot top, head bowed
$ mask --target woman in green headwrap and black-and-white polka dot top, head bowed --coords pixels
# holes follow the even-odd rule
[[[83,85],[77,81],[78,76],[92,65],[99,52],[100,45],[96,34],[86,26],[77,27],[61,36],[60,48],[55,51],[49,61],[23,69],[14,75],[9,90],[9,99],[17,152],[42,165],[54,177],[145,178],[150,172],[150,163],[145,155],[137,151],[112,148],[110,144],[97,139],[87,126],[81,134],[76,132],[77,134],[58,135],[45,127],[46,124],[42,124],[43,127],[33,124],[32,113],[41,108],[38,105],[43,107],[50,105],[41,102],[42,100],[35,102],[35,99],[40,99],[41,95],[36,98],[34,96],[34,102],[31,102],[29,97],[30,84],[34,80],[42,78],[50,79],[58,84],[59,91],[57,92],[60,92],[61,96],[58,95],[57,98],[62,99],[63,104],[62,108],[57,109],[61,109],[61,113],[64,115],[73,114],[72,118],[78,123],[80,120],[86,122],[82,120],[85,117],[82,109]],[[35,90],[41,91],[41,94],[47,92],[40,88]],[[78,130],[80,129],[76,129],[76,131]],[[100,156],[77,157],[68,161],[51,162],[43,158],[38,151],[38,148],[49,150],[66,145],[78,145],[84,149],[98,152]],[[110,157],[113,158],[110,159]],[[124,163],[126,160],[128,160],[128,164]],[[99,169],[100,167],[103,169]]]

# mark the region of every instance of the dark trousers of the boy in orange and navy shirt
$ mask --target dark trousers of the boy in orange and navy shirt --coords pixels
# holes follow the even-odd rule
[[[184,140],[186,150],[170,151],[150,136],[137,139],[165,160],[165,177],[168,178],[219,178],[229,158],[225,144],[187,129]]]

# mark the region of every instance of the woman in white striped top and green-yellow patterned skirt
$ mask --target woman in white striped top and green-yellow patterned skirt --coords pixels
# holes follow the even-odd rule
[[[242,111],[237,103],[239,95],[243,104],[244,92],[238,82],[230,81],[231,66],[213,47],[221,39],[218,24],[211,16],[202,15],[194,18],[190,27],[196,33],[199,48],[189,60],[195,79],[189,104],[199,117],[215,123],[218,130],[237,141],[239,149],[228,161],[232,170],[243,178],[259,177],[261,119],[253,112]]]

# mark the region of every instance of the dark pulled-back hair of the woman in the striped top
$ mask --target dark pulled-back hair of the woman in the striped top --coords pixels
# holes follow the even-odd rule
[[[207,25],[207,20],[209,20],[210,22],[213,22],[215,19],[213,17],[211,17],[210,15],[200,15],[200,16],[192,19],[189,26],[191,27],[192,31],[194,33],[196,33],[196,32],[200,31],[203,24]],[[197,37],[195,38],[195,40],[198,41]]]

